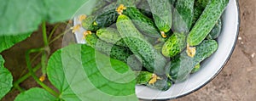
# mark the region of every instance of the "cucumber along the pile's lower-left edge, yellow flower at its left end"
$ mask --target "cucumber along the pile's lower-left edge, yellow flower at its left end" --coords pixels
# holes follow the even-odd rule
[[[119,59],[120,61],[127,63],[127,65],[131,67],[131,70],[142,70],[140,60],[132,56],[133,53],[131,53],[129,48],[103,42],[98,39],[94,33],[85,36],[85,40],[88,46],[95,48],[97,51],[105,53],[113,59]]]

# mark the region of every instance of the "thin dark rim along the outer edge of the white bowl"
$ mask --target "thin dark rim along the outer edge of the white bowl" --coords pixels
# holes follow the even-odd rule
[[[225,60],[224,64],[221,66],[221,68],[218,70],[218,72],[217,72],[214,76],[212,76],[212,78],[211,78],[210,80],[208,80],[207,82],[205,82],[205,83],[204,83],[203,85],[201,85],[200,87],[195,88],[195,89],[192,90],[191,92],[189,92],[189,93],[184,93],[184,94],[182,94],[182,95],[177,96],[176,98],[183,98],[184,96],[187,96],[187,95],[189,95],[189,94],[191,94],[191,93],[195,93],[196,91],[198,91],[199,89],[201,89],[201,87],[205,87],[210,81],[212,81],[215,77],[217,77],[218,74],[220,73],[220,71],[224,69],[224,66],[227,65],[227,62],[230,60],[230,57],[231,57],[232,53],[234,52],[234,49],[236,48],[237,37],[238,37],[238,35],[239,35],[239,27],[240,27],[240,21],[241,21],[241,20],[240,20],[240,8],[239,8],[239,2],[238,2],[238,0],[236,0],[236,8],[237,8],[237,13],[238,13],[238,25],[237,25],[237,31],[236,31],[236,39],[235,39],[234,46],[233,46],[233,48],[231,49],[231,52],[230,52],[228,58]],[[156,98],[156,99],[140,98],[140,99],[142,99],[142,100],[154,100],[154,101],[155,101],[155,100],[157,100],[157,101],[166,101],[166,100],[171,100],[171,99],[176,99],[176,98],[159,98],[159,99],[158,99],[158,98]]]

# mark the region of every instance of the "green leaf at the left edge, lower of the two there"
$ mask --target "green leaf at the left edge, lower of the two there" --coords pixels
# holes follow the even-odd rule
[[[13,76],[4,68],[4,59],[0,55],[0,99],[13,87]]]

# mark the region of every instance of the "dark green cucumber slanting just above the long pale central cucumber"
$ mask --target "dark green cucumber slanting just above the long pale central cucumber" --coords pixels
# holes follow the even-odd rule
[[[143,34],[152,37],[160,37],[160,32],[154,25],[154,21],[142,14],[137,8],[127,8],[124,10],[125,15],[131,18],[132,22],[137,26],[139,31]]]

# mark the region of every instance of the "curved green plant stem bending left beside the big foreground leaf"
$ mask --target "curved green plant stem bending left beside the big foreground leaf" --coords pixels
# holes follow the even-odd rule
[[[33,72],[32,70],[32,66],[31,66],[31,61],[29,58],[29,54],[30,53],[36,53],[36,52],[40,52],[40,51],[44,51],[44,48],[38,48],[38,49],[31,49],[29,51],[26,52],[26,65],[27,65],[27,69],[29,70],[30,75],[33,77],[33,79],[35,81],[38,82],[38,84],[43,87],[46,91],[48,91],[49,93],[53,94],[55,97],[58,97],[58,93],[56,93],[53,89],[51,89],[50,87],[48,87],[47,85],[44,84],[44,82],[40,81],[38,79],[38,76],[36,76],[36,74]]]

